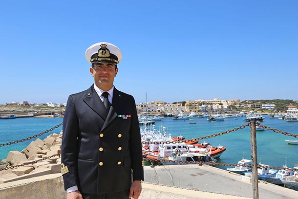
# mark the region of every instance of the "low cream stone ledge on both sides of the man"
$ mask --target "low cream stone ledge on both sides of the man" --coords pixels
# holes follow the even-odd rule
[[[146,182],[142,187],[139,199],[249,199]],[[65,199],[66,192],[61,174],[50,174],[0,184],[0,196],[9,199]]]

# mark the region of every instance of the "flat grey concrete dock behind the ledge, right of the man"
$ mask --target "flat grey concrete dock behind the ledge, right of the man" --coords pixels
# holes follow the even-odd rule
[[[146,166],[145,182],[175,186],[179,188],[217,193],[226,196],[253,198],[252,183],[243,175],[208,165]],[[298,199],[298,191],[286,187],[258,182],[259,199]],[[204,197],[201,195],[202,199]],[[228,197],[229,198],[229,197]]]

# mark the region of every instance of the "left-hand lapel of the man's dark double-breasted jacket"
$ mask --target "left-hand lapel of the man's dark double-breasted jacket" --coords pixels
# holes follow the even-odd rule
[[[95,111],[102,119],[106,120],[106,118],[109,116],[107,114],[106,107],[102,100],[97,95],[96,91],[92,86],[86,91],[85,97],[83,97],[83,100],[85,103],[93,110]],[[111,106],[112,108],[112,106]],[[111,109],[110,109],[111,110]],[[106,116],[107,115],[107,116]],[[105,122],[106,123],[106,122]]]

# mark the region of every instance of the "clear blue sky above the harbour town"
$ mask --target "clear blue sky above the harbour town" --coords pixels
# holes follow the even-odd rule
[[[0,3],[0,104],[66,102],[93,78],[85,50],[123,53],[114,85],[137,103],[298,100],[297,0]]]

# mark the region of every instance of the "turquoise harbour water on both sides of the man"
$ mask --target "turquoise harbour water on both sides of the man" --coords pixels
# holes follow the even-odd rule
[[[62,121],[62,118],[0,119],[0,144],[39,134],[60,124]],[[183,121],[164,118],[162,121],[155,122],[155,128],[160,129],[161,126],[165,126],[168,133],[173,137],[181,135],[186,139],[192,139],[230,130],[247,123],[243,118],[226,118],[224,121],[217,122],[207,121],[206,118],[194,118],[192,122],[196,122],[196,124],[190,124],[189,120]],[[269,116],[265,116],[264,121],[261,123],[281,131],[298,134],[298,122],[286,122],[285,120],[271,119]],[[59,134],[61,130],[62,126],[38,138],[45,139],[52,133]],[[298,145],[291,145],[285,142],[285,139],[295,140],[294,137],[265,130],[257,131],[256,139],[258,162],[281,167],[287,162],[287,166],[290,168],[293,168],[294,164],[298,162]],[[5,159],[9,151],[21,151],[32,140],[35,139],[0,147],[0,159]],[[251,158],[249,127],[206,139],[205,141],[211,143],[213,146],[220,144],[227,148],[217,162],[237,163],[237,161],[242,159],[243,153],[245,159]]]

